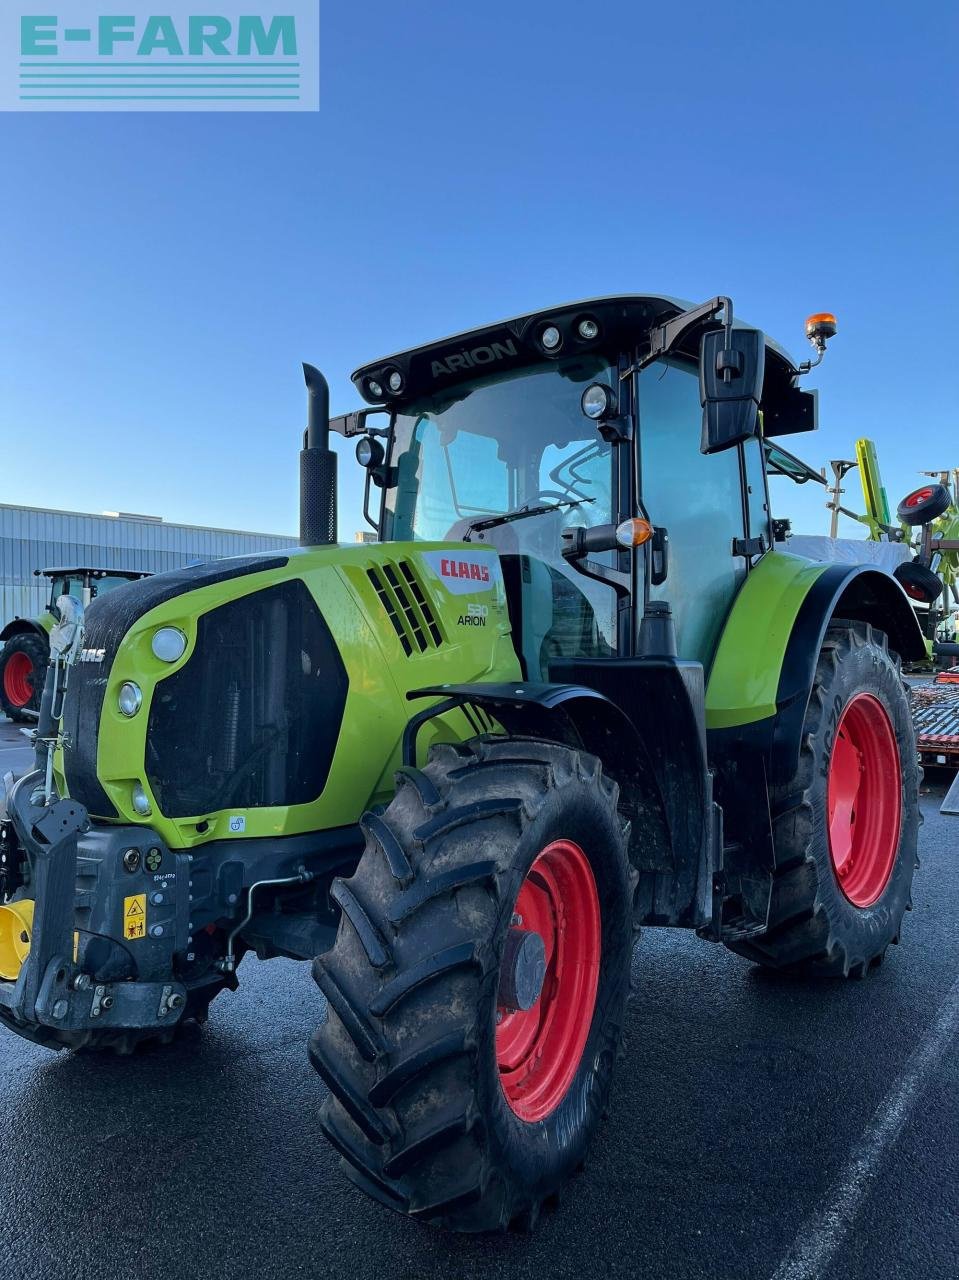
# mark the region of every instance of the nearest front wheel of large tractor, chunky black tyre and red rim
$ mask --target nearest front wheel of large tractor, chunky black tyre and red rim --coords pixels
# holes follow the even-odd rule
[[[583,1164],[629,991],[630,869],[599,762],[522,739],[398,774],[314,965],[321,1125],[398,1212],[531,1225]]]

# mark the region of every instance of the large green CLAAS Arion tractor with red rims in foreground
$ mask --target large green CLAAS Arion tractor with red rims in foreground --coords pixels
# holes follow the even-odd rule
[[[923,640],[890,575],[772,549],[807,332],[796,365],[729,298],[599,298],[365,365],[333,424],[305,366],[301,545],[63,621],[0,827],[3,1023],[128,1052],[246,952],[311,960],[346,1172],[480,1231],[581,1167],[641,927],[878,965]],[[330,425],[378,543],[335,544]]]

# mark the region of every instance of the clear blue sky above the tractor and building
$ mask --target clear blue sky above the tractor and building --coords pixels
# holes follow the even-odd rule
[[[895,503],[959,466],[956,14],[324,0],[316,115],[1,115],[0,502],[293,531],[301,360],[343,411],[367,358],[649,291],[799,358],[835,311],[793,447],[871,435]]]

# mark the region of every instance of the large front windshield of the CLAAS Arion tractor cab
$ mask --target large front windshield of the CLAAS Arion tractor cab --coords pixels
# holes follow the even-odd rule
[[[512,559],[531,677],[545,675],[551,658],[616,649],[613,593],[561,554],[565,527],[615,520],[613,451],[580,407],[593,381],[615,385],[616,369],[602,357],[570,357],[460,384],[394,420],[385,538],[488,543],[507,581]],[[562,509],[475,529],[557,503]]]

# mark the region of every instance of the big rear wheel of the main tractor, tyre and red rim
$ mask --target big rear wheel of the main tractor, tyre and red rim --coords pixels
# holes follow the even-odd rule
[[[909,700],[881,632],[862,622],[830,626],[799,769],[770,800],[768,929],[731,948],[772,969],[863,977],[899,941],[919,831]]]

